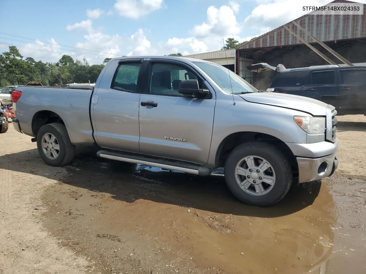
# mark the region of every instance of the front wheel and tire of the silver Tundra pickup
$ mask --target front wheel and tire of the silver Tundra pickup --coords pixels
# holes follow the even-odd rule
[[[240,164],[247,156],[255,156],[253,157],[254,168],[251,169],[252,171],[247,165],[251,162],[250,158],[248,161],[244,160],[242,165]],[[261,163],[259,158],[264,159],[265,163],[269,163],[270,167],[266,170],[263,167],[261,170],[257,169]],[[237,169],[237,165],[243,169]],[[237,174],[236,170],[244,175]],[[243,172],[243,170],[246,171]],[[248,179],[247,176],[250,178]],[[247,142],[237,146],[229,154],[225,162],[225,180],[232,194],[240,201],[249,205],[270,206],[279,202],[290,189],[292,183],[291,164],[275,146],[266,142]],[[271,183],[273,181],[274,183],[268,184],[265,181]],[[242,184],[242,187],[239,186],[239,183]]]

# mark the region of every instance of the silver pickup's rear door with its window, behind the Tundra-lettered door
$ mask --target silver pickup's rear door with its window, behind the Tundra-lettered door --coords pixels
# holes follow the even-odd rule
[[[92,97],[94,137],[103,148],[139,152],[141,66],[141,60],[112,61]]]

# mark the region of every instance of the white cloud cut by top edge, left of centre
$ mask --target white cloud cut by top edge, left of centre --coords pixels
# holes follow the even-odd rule
[[[119,15],[139,19],[161,8],[163,0],[116,0],[115,9]]]

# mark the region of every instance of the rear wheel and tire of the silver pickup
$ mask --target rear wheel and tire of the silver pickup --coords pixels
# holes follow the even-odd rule
[[[51,142],[50,139],[50,137],[52,138],[52,136],[55,137],[55,139],[53,139],[53,142]],[[56,154],[58,151],[57,157],[54,156],[53,152],[49,154],[50,157],[46,156],[46,153],[42,148],[42,143],[47,145],[47,142],[45,142],[46,140],[49,140],[48,145],[50,149],[45,149],[47,151],[51,151],[52,149],[52,151]],[[57,147],[59,149],[57,149]],[[66,127],[61,123],[50,123],[40,128],[37,133],[37,148],[42,160],[44,160],[46,164],[53,167],[61,167],[63,165],[69,164],[75,156],[75,146],[71,144]]]

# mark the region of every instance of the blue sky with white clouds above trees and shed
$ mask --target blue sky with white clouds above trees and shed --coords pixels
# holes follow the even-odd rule
[[[122,55],[200,53],[219,50],[223,38],[242,42],[279,27],[305,14],[303,5],[329,2],[0,0],[0,52],[11,44],[37,61],[69,54],[91,64]]]

